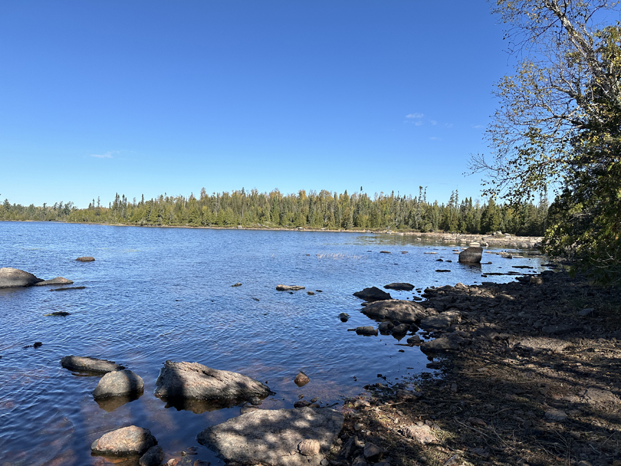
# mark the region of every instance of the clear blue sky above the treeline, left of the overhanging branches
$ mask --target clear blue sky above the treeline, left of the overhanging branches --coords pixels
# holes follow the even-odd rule
[[[484,0],[2,1],[0,197],[480,197],[502,33]]]

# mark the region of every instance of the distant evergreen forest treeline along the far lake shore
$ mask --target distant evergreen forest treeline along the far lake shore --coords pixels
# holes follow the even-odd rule
[[[417,197],[391,193],[342,194],[328,191],[299,191],[283,195],[277,189],[259,193],[256,189],[212,193],[205,188],[199,197],[160,195],[155,199],[128,200],[115,196],[114,202],[102,206],[99,198],[88,208],[72,202],[53,206],[21,206],[5,200],[0,205],[0,220],[57,220],[77,223],[110,223],[170,226],[268,226],[313,229],[392,229],[408,231],[446,231],[489,233],[503,231],[516,235],[541,236],[546,229],[548,202],[542,197],[538,205],[507,206],[489,200],[480,204],[472,198],[459,200],[451,193],[447,204],[430,203],[420,187]]]

